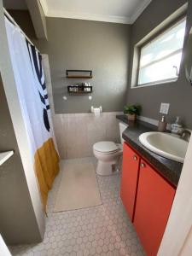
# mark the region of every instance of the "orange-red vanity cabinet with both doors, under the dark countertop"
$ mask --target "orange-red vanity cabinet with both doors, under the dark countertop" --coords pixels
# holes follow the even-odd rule
[[[121,199],[148,256],[157,255],[175,188],[125,143]],[[128,188],[130,186],[130,188]]]

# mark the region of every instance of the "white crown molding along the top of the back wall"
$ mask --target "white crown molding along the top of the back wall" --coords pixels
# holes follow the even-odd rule
[[[77,19],[77,20],[95,20],[95,21],[104,21],[112,23],[122,23],[122,24],[131,24],[129,17],[115,16],[115,15],[94,15],[94,14],[83,14],[76,12],[67,12],[60,10],[48,10],[48,17],[55,18],[67,18],[67,19]]]

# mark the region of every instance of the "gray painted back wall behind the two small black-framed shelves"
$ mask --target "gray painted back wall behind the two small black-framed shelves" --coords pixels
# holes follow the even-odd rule
[[[126,98],[130,26],[106,22],[47,18],[49,41],[35,41],[49,54],[55,113],[87,113],[90,106],[121,111]],[[66,69],[91,69],[93,79],[66,79]],[[67,85],[90,82],[93,99],[68,96]],[[68,100],[64,101],[66,95]]]

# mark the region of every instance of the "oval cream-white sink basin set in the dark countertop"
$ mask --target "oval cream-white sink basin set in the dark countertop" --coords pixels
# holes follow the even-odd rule
[[[180,163],[183,163],[188,148],[188,142],[180,137],[157,131],[144,132],[139,141],[155,154]]]

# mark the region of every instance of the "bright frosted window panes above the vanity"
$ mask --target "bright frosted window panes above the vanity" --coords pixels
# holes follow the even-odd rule
[[[138,86],[176,81],[182,58],[186,18],[141,48]]]

